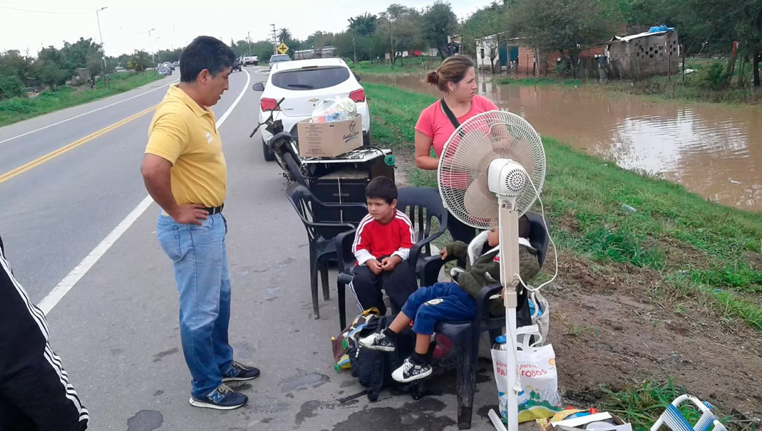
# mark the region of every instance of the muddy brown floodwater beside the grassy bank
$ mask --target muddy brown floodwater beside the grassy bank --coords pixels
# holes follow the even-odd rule
[[[480,78],[479,93],[523,116],[541,135],[625,169],[679,182],[712,201],[762,210],[762,114],[756,106],[612,98],[576,88],[493,85]],[[414,75],[367,81],[437,94]]]

